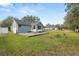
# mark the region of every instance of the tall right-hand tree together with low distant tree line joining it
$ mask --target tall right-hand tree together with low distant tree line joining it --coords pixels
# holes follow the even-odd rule
[[[66,3],[65,4],[64,23],[62,25],[47,24],[47,27],[58,26],[63,29],[73,30],[79,32],[79,3]]]

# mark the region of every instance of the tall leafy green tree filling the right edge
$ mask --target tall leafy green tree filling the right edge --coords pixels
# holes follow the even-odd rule
[[[66,12],[64,26],[72,30],[79,29],[79,4],[66,4]]]

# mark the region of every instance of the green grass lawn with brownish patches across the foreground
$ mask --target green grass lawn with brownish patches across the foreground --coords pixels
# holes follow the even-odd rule
[[[34,37],[9,33],[0,37],[0,55],[79,55],[79,33],[48,31]]]

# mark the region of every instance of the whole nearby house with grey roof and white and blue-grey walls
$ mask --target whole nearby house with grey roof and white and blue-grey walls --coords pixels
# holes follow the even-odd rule
[[[11,31],[13,33],[26,33],[26,32],[42,32],[44,26],[39,21],[28,20],[13,20]]]

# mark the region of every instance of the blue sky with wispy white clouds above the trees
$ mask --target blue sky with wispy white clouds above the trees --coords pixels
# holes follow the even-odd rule
[[[38,16],[41,22],[45,24],[62,24],[65,16],[65,5],[63,3],[45,3],[45,4],[0,4],[0,20],[7,16],[14,16],[21,19],[26,15]]]

